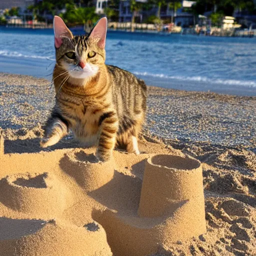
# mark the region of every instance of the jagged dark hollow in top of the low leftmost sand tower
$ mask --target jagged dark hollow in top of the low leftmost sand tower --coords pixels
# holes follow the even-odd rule
[[[45,183],[45,178],[47,177],[47,173],[42,173],[35,177],[19,177],[13,181],[14,184],[19,186],[26,186],[26,187],[36,187],[36,188],[46,188],[47,185]]]

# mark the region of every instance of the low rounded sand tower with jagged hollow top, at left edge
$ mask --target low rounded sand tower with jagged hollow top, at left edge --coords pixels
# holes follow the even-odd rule
[[[0,185],[4,205],[25,214],[54,217],[69,206],[70,192],[54,174],[13,174],[1,179]]]

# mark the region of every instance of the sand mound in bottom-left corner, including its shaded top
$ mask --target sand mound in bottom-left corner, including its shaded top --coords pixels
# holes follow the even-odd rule
[[[95,225],[96,230],[55,220],[3,219],[0,255],[112,255],[104,229]]]

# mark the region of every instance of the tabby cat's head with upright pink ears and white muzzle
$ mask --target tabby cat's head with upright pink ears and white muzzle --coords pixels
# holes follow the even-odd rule
[[[56,64],[70,78],[86,79],[97,74],[105,62],[106,18],[88,36],[73,36],[63,20],[54,17]]]

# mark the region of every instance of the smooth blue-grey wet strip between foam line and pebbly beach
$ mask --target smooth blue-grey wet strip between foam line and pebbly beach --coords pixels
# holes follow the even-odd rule
[[[54,58],[54,56],[52,57]],[[0,56],[0,72],[31,75],[37,78],[51,80],[51,72],[54,60],[46,58],[22,58],[17,56]],[[166,77],[154,77],[151,75],[135,74],[143,79],[149,86],[157,86],[170,89],[188,91],[216,92],[238,96],[256,96],[256,88],[235,84],[221,84],[209,81],[196,81],[188,79],[175,79]]]

